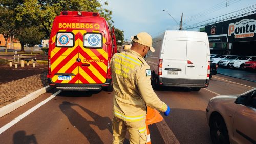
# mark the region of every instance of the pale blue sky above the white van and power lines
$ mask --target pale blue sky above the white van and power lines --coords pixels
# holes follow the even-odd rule
[[[216,18],[231,12],[234,14],[236,10],[256,5],[256,0],[106,1],[109,4],[104,6],[104,8],[112,11],[113,25],[124,31],[124,40],[130,39],[131,36],[139,32],[147,32],[152,37],[155,37],[165,30],[178,30],[181,13],[183,13],[182,26],[185,28],[197,22]],[[256,7],[252,9],[256,10]],[[189,31],[199,31],[199,28],[190,29]]]

